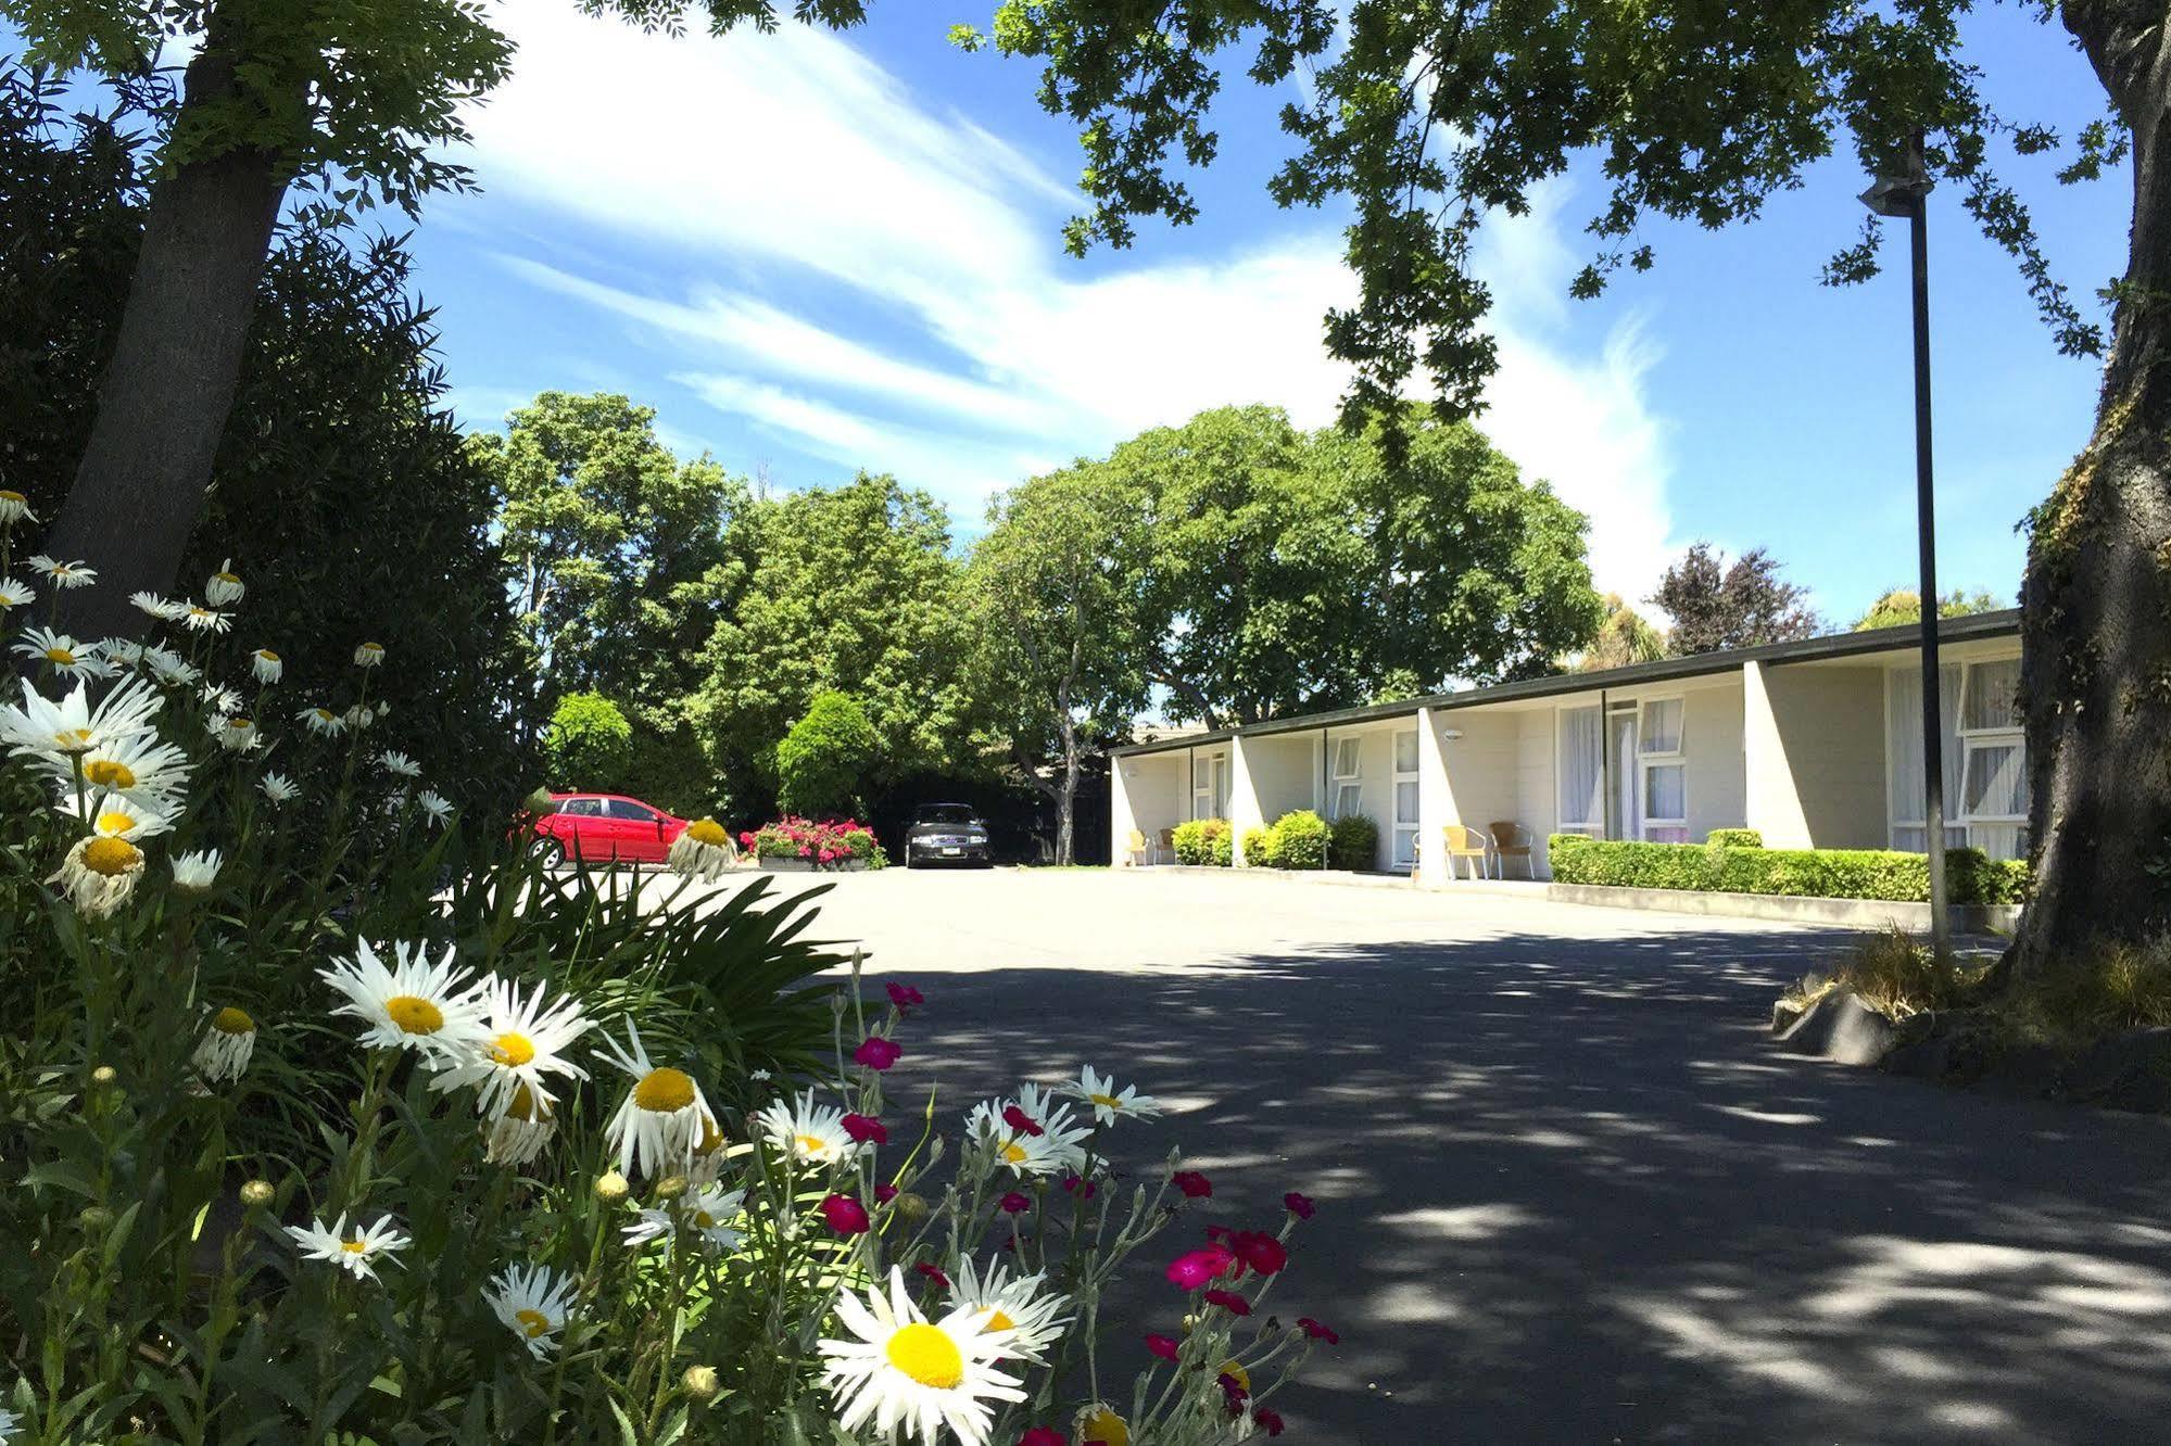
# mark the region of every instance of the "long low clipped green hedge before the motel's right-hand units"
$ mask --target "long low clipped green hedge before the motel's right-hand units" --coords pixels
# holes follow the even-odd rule
[[[1748,829],[1719,829],[1739,836]],[[1761,849],[1713,836],[1709,845],[1650,845],[1554,834],[1546,840],[1557,884],[1689,888],[1728,895],[1804,899],[1930,899],[1930,858],[1891,849]],[[1945,881],[1954,903],[2019,903],[2028,864],[1993,860],[1982,849],[1947,849]]]

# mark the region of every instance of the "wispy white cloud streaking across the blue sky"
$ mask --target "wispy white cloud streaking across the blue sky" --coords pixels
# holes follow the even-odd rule
[[[1049,458],[1207,406],[1333,417],[1346,373],[1322,317],[1353,280],[1313,217],[1211,261],[1146,243],[1088,269],[1057,245],[1066,187],[829,33],[645,37],[573,7],[502,20],[521,54],[473,122],[482,182],[653,258],[634,280],[571,248],[504,265],[619,317],[662,373],[795,452],[897,471],[970,523]],[[1487,237],[1502,365],[1483,426],[1591,515],[1600,586],[1639,595],[1672,532],[1656,350],[1635,319],[1596,350],[1567,337],[1565,200],[1541,191]],[[810,287],[853,334],[786,300]]]

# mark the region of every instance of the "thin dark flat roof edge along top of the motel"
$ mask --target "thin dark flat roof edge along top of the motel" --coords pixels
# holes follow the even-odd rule
[[[2019,608],[1997,612],[1969,612],[1947,617],[1937,623],[1939,643],[1967,643],[1973,638],[2017,636],[2021,630]],[[1405,697],[1394,703],[1363,703],[1359,708],[1335,708],[1329,712],[1303,712],[1285,719],[1264,719],[1240,727],[1216,727],[1203,734],[1179,738],[1157,738],[1153,743],[1127,743],[1109,749],[1109,758],[1135,753],[1175,753],[1201,743],[1222,743],[1237,734],[1259,738],[1264,734],[1298,734],[1316,727],[1342,727],[1350,723],[1379,723],[1383,719],[1407,719],[1420,708],[1478,708],[1483,703],[1513,703],[1518,699],[1559,697],[1565,693],[1596,693],[1598,688],[1628,688],[1650,682],[1674,682],[1680,677],[1709,677],[1732,673],[1743,662],[1819,662],[1830,658],[1856,658],[1861,654],[1889,654],[1915,647],[1921,630],[1915,623],[1900,627],[1869,627],[1865,632],[1834,632],[1821,638],[1798,638],[1793,643],[1763,643],[1759,647],[1737,647],[1719,654],[1691,654],[1687,658],[1659,658],[1656,662],[1630,662],[1624,669],[1600,669],[1596,673],[1552,673],[1546,677],[1524,677],[1518,682],[1489,684],[1483,688],[1461,688],[1457,693],[1433,693],[1426,697]]]

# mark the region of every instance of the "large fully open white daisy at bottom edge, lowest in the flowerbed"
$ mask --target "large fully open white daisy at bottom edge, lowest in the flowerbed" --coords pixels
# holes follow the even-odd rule
[[[968,1311],[953,1309],[929,1322],[905,1294],[905,1272],[890,1266],[890,1288],[868,1288],[836,1298],[838,1322],[853,1340],[823,1340],[823,1379],[836,1400],[838,1424],[894,1442],[899,1429],[921,1446],[936,1446],[944,1426],[964,1446],[988,1446],[994,1426],[990,1400],[1025,1400],[1016,1377],[994,1361],[1014,1350],[1007,1331],[983,1331]]]

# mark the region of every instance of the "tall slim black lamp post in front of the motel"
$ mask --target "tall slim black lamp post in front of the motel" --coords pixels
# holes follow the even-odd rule
[[[1915,274],[1915,534],[1921,554],[1921,769],[1924,849],[1930,855],[1930,940],[1939,953],[1952,949],[1952,918],[1945,892],[1945,727],[1937,680],[1937,502],[1930,484],[1930,241],[1924,226],[1930,176],[1921,161],[1921,130],[1908,137],[1906,163],[1897,176],[1878,176],[1863,191],[1863,204],[1878,215],[1908,219],[1908,254]]]

